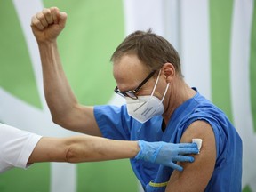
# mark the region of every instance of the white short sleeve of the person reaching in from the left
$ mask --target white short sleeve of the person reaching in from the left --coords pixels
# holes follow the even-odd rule
[[[42,138],[0,123],[0,172],[12,167],[28,168],[28,158]]]

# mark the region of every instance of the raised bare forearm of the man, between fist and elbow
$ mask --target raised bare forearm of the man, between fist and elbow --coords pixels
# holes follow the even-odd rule
[[[44,94],[54,122],[65,118],[76,105],[76,97],[63,71],[56,41],[38,43],[41,56]]]

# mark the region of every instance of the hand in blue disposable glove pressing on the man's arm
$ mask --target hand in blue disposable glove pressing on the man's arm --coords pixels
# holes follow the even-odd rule
[[[172,167],[178,171],[182,171],[183,168],[175,164],[174,162],[194,162],[193,156],[182,156],[186,154],[197,154],[198,148],[196,143],[166,143],[159,142],[147,142],[144,140],[138,140],[140,151],[135,156],[135,159],[144,160],[155,164],[163,164],[164,166]]]

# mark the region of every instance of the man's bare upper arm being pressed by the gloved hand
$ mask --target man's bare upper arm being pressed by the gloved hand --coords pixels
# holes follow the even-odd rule
[[[166,191],[204,191],[212,177],[216,160],[216,145],[212,126],[205,121],[196,121],[188,126],[180,142],[191,142],[193,138],[203,140],[200,154],[194,163],[178,163],[183,172],[173,171]]]

